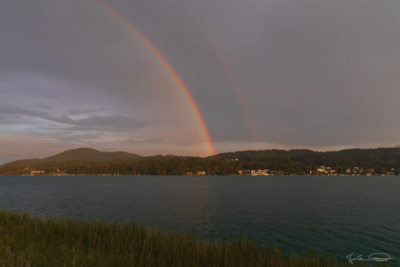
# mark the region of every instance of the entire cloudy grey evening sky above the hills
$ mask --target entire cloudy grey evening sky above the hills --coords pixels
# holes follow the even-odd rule
[[[0,164],[77,146],[395,146],[399,13],[398,0],[2,1]]]

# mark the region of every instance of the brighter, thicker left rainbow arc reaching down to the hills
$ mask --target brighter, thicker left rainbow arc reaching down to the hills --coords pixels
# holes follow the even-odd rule
[[[101,6],[104,11],[112,15],[116,20],[118,20],[118,22],[123,24],[131,33],[133,33],[136,36],[136,38],[138,38],[140,42],[142,42],[142,44],[148,49],[148,51],[157,59],[157,61],[166,70],[168,75],[172,78],[174,83],[179,88],[182,96],[188,103],[190,109],[192,110],[194,118],[196,119],[200,131],[202,132],[202,136],[206,143],[208,153],[210,154],[210,156],[214,155],[214,148],[212,147],[212,142],[210,134],[208,133],[206,127],[206,123],[204,123],[204,119],[200,114],[200,111],[196,103],[194,102],[192,95],[190,95],[188,89],[186,88],[185,84],[183,83],[182,79],[178,76],[176,71],[172,68],[172,66],[168,63],[168,61],[161,55],[161,53],[156,49],[156,47],[154,47],[154,45],[150,42],[150,40],[148,40],[139,30],[137,30],[134,26],[132,26],[132,24],[130,24],[127,20],[125,20],[114,10],[106,6],[104,3],[98,0],[95,0],[94,2],[98,3],[99,6]]]

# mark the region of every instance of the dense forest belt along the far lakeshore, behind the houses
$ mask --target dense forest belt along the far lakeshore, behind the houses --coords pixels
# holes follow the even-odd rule
[[[237,159],[237,160],[236,160]],[[247,174],[248,170],[268,170],[270,174],[322,174],[320,166],[330,167],[335,174],[400,174],[400,148],[348,149],[332,152],[312,150],[248,150],[221,153],[206,158],[151,156],[134,160],[69,161],[38,163],[32,166],[0,166],[1,175],[30,174],[152,174],[184,175],[204,171],[211,175]],[[325,174],[325,173],[324,173]]]

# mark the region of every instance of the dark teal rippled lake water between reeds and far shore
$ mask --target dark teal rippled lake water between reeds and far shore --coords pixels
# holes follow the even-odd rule
[[[0,176],[0,208],[400,258],[399,188],[398,176]]]

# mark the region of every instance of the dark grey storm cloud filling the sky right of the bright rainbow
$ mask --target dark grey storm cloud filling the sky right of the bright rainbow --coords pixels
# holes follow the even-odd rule
[[[395,138],[371,129],[372,121],[389,132],[400,130],[390,122],[400,109],[385,97],[400,97],[394,87],[400,82],[400,2],[206,0],[187,5],[177,0],[164,6],[148,1],[135,16],[122,8],[134,6],[128,1],[113,6],[162,44],[160,49],[192,89],[215,142],[255,141],[251,127],[258,141],[290,146]],[[191,14],[182,12],[182,6]],[[152,23],[145,15],[149,12],[165,23]],[[246,123],[250,119],[240,110],[221,63],[190,16],[226,52],[255,125]],[[181,20],[187,22],[184,27]],[[169,27],[174,30],[167,31]]]

